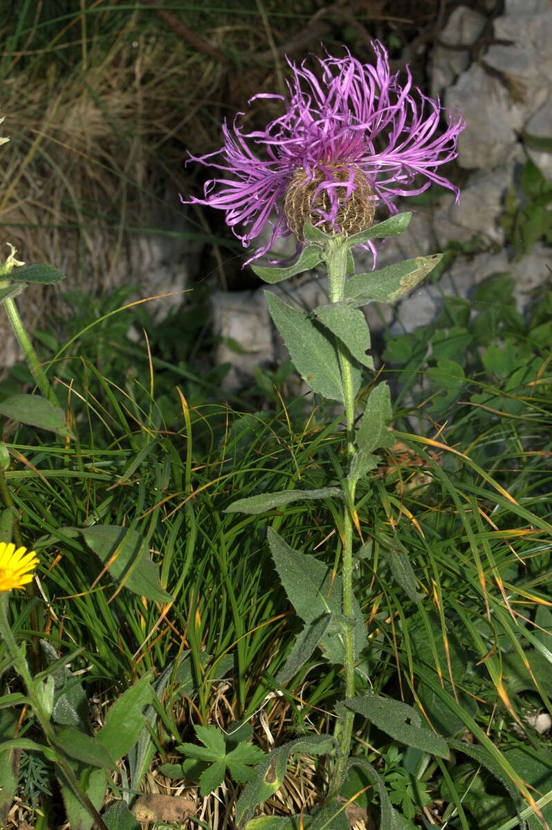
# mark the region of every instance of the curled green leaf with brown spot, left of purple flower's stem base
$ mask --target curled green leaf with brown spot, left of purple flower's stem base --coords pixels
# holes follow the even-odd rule
[[[292,740],[273,749],[265,764],[260,764],[255,780],[246,784],[236,805],[236,819],[239,828],[247,827],[253,818],[257,804],[266,801],[281,788],[286,774],[287,761],[291,753],[325,755],[335,747],[335,739],[329,735],[309,735]]]

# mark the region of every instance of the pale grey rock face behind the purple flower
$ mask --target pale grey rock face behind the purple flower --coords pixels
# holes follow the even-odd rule
[[[530,291],[549,276],[550,248],[538,244],[520,261],[510,261],[497,220],[504,211],[506,192],[527,155],[547,178],[552,177],[552,154],[527,149],[521,141],[524,131],[552,135],[552,0],[506,0],[504,15],[492,23],[491,44],[479,54],[478,38],[489,25],[478,12],[456,7],[430,56],[432,95],[441,96],[448,107],[462,110],[467,120],[459,140],[458,163],[470,175],[461,201],[457,205],[454,196],[445,193],[435,210],[414,208],[408,230],[388,240],[379,251],[378,266],[442,250],[448,242],[470,242],[474,237],[488,251],[458,256],[437,286],[418,288],[393,309],[369,305],[364,312],[373,332],[384,325],[390,325],[392,332],[411,332],[437,316],[443,295],[469,296],[487,276],[505,271],[515,278],[515,298],[523,310]],[[467,48],[447,49],[446,45]],[[408,200],[403,209],[411,209]],[[282,253],[289,255],[291,249]],[[355,254],[355,261],[359,273],[372,267],[371,259],[362,252]],[[291,295],[302,307],[314,308],[326,301],[320,276],[305,274],[284,285],[288,298]],[[282,291],[283,296],[280,286],[270,290]],[[232,363],[225,384],[233,391],[252,366],[273,364],[286,355],[276,333],[268,336],[261,289],[234,295],[233,300],[220,296],[216,305],[217,333],[231,336],[248,353],[229,354],[223,347],[217,351],[218,360]],[[217,321],[221,308],[223,320]],[[232,334],[224,334],[227,330]]]

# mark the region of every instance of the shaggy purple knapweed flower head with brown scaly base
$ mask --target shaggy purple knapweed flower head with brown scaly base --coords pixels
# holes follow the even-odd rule
[[[389,70],[387,51],[379,41],[373,46],[375,66],[350,54],[319,58],[320,81],[305,61],[288,61],[289,97],[261,93],[249,102],[282,100],[280,118],[243,133],[238,113],[232,128],[222,125],[222,149],[189,159],[222,171],[205,184],[203,199],[189,203],[226,211],[227,225],[244,247],[271,227],[269,241],[248,261],[291,232],[302,242],[305,221],[330,234],[364,230],[376,204],[396,213],[393,198],[423,193],[431,183],[454,191],[458,200],[458,188],[437,169],[457,157],[462,115],[450,116],[440,132],[439,100],[413,89],[408,67],[402,85]],[[222,164],[211,160],[218,154]]]

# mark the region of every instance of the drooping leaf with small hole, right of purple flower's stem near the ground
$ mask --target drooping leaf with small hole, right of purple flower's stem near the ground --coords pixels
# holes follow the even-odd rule
[[[438,755],[440,758],[448,758],[450,755],[447,742],[440,735],[435,735],[432,730],[422,726],[418,712],[403,701],[368,694],[349,698],[344,701],[344,706],[359,712],[359,715],[364,715],[379,730],[402,744]]]

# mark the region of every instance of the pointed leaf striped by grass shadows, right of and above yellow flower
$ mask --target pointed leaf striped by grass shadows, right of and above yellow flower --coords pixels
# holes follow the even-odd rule
[[[149,559],[147,541],[136,530],[115,525],[93,525],[78,530],[111,576],[129,591],[156,603],[172,600],[159,582],[156,565]]]

